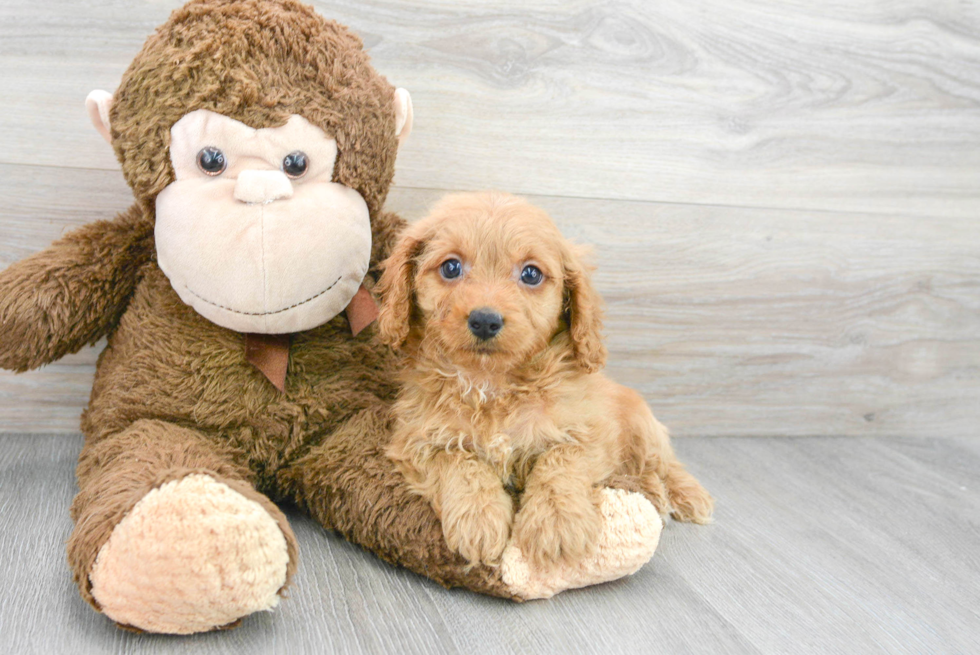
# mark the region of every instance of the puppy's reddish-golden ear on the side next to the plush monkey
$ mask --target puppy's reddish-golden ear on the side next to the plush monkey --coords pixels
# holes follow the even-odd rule
[[[384,269],[376,290],[381,296],[378,311],[378,335],[393,348],[401,348],[408,339],[412,320],[412,303],[415,290],[415,257],[421,252],[423,241],[409,227],[401,237],[391,256],[381,263]]]

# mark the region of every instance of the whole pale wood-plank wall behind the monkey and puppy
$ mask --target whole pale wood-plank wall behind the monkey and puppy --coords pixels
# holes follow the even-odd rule
[[[128,206],[83,101],[179,4],[0,4],[0,268]],[[675,434],[977,435],[977,3],[315,4],[412,92],[389,206],[495,187],[595,244]],[[0,431],[76,431],[96,355],[0,373]]]

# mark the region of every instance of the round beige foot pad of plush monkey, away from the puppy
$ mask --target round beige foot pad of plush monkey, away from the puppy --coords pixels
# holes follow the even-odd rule
[[[279,602],[289,554],[275,519],[195,474],[146,494],[112,531],[89,574],[109,618],[190,634]]]

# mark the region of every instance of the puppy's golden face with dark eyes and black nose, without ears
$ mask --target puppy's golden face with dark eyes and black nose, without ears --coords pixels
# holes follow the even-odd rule
[[[560,236],[532,207],[442,214],[416,265],[424,338],[469,368],[547,346],[562,312]]]

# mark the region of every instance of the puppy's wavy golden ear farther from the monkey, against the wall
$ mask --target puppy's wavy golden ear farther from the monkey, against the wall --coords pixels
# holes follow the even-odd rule
[[[602,339],[602,300],[592,286],[589,249],[569,244],[564,255],[565,316],[576,361],[589,373],[606,364]]]

